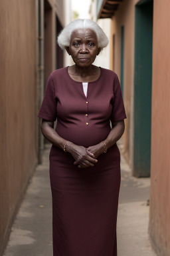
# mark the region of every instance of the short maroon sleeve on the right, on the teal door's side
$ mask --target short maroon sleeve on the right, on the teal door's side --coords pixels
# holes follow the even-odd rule
[[[126,119],[126,111],[124,108],[120,81],[118,79],[118,76],[116,76],[116,79],[114,81],[114,100],[112,102],[112,115],[110,117],[110,121],[113,124],[116,121],[121,121],[124,119]]]

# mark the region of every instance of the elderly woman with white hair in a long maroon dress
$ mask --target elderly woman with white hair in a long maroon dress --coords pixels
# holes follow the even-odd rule
[[[52,143],[54,256],[116,256],[116,141],[126,113],[116,73],[92,65],[108,38],[94,21],[77,19],[58,44],[75,64],[50,74],[39,112],[42,134]]]

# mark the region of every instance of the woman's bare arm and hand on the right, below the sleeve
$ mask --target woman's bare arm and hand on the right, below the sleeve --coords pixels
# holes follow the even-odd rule
[[[112,130],[110,131],[108,137],[103,141],[106,143],[106,145],[101,142],[92,147],[88,147],[87,153],[93,153],[94,158],[98,158],[100,154],[104,153],[106,149],[112,147],[122,137],[124,134],[124,129],[124,120],[113,123]]]

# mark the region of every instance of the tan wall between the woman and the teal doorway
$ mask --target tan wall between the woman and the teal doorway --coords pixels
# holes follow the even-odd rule
[[[124,155],[131,167],[133,164],[134,5],[133,0],[124,0],[118,7],[112,18],[110,36],[110,68],[121,80],[121,27],[124,25],[124,104],[128,117],[125,121]]]

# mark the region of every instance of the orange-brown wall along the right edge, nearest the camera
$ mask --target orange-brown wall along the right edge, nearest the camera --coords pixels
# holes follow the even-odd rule
[[[153,91],[149,233],[158,255],[170,255],[170,31],[169,0],[153,6]]]

